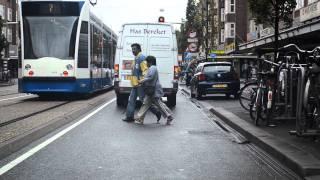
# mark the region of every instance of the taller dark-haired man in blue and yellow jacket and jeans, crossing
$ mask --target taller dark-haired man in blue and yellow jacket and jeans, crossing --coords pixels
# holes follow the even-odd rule
[[[134,111],[136,108],[137,97],[143,102],[144,92],[141,86],[138,86],[139,80],[143,79],[144,75],[148,71],[147,63],[145,61],[145,56],[141,53],[141,46],[138,43],[134,43],[131,45],[132,53],[135,56],[133,67],[132,67],[132,75],[128,76],[131,81],[132,89],[130,92],[126,117],[122,119],[126,122],[134,121]],[[161,119],[161,112],[157,110],[154,106],[151,107],[151,112],[154,113],[157,117],[157,121]]]

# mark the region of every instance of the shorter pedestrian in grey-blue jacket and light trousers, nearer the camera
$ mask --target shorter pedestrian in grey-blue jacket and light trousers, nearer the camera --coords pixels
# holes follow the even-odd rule
[[[149,108],[154,105],[156,106],[162,113],[164,117],[167,118],[167,125],[170,125],[173,120],[172,112],[161,101],[161,97],[164,95],[160,81],[159,81],[159,73],[156,66],[156,58],[154,56],[148,56],[146,58],[148,72],[145,77],[139,81],[139,84],[144,88],[145,97],[143,100],[143,104],[137,113],[137,117],[135,119],[136,123],[143,124],[144,117],[149,110]],[[160,120],[160,119],[159,119]],[[157,121],[159,123],[159,120]]]

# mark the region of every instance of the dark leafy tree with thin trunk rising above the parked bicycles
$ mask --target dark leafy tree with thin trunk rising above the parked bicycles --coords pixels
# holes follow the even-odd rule
[[[249,8],[256,23],[274,27],[274,57],[279,46],[279,22],[290,25],[296,5],[296,0],[249,0]]]

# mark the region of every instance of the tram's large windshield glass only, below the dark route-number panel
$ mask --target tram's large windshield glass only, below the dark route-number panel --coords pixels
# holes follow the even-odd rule
[[[25,58],[74,58],[78,17],[26,17]]]

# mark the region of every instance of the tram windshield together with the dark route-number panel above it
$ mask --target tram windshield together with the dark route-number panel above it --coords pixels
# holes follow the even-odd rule
[[[78,19],[83,3],[22,3],[24,58],[74,59]]]

